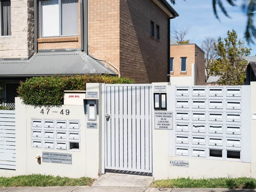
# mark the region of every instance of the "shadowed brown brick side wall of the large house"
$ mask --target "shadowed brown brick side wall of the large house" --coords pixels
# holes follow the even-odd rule
[[[150,36],[150,20],[160,41]],[[152,0],[120,1],[120,72],[136,83],[167,82],[168,15]]]

